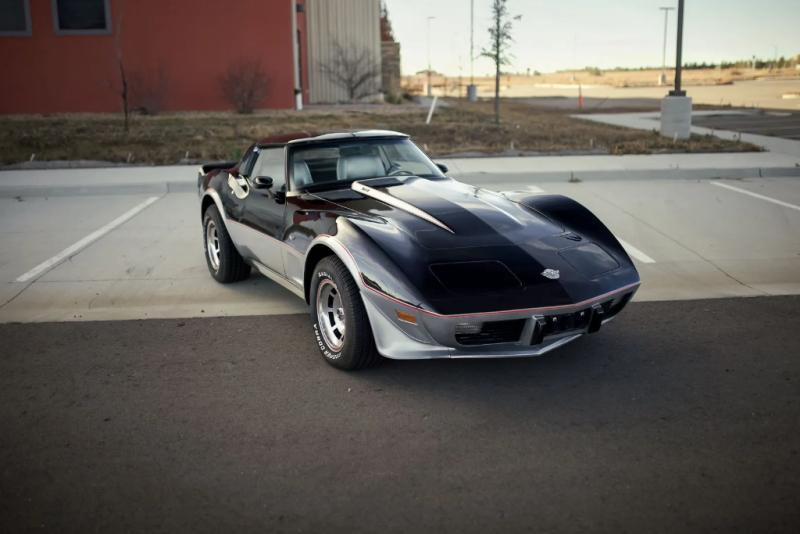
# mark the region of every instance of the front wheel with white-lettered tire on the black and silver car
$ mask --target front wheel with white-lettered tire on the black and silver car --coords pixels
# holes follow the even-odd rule
[[[320,260],[314,268],[310,295],[314,336],[326,362],[352,371],[381,360],[361,293],[339,258]]]

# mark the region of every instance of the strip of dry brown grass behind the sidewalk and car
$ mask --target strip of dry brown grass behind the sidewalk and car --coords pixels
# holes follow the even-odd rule
[[[604,111],[608,111],[605,109]],[[286,132],[380,128],[406,132],[433,156],[451,154],[649,154],[756,150],[745,143],[693,137],[673,143],[655,133],[579,121],[569,111],[503,102],[495,125],[492,103],[448,101],[431,125],[414,104],[311,107],[294,111],[180,113],[135,116],[125,133],[116,114],[0,117],[3,164],[94,160],[147,164],[230,159],[254,140]]]

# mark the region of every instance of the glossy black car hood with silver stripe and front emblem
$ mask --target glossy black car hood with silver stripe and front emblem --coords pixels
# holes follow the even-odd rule
[[[524,203],[456,180],[403,178],[317,196],[353,212],[440,313],[573,304],[630,278],[620,269],[627,257]]]

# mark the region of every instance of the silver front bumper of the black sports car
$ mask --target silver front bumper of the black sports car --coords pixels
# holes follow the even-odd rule
[[[540,356],[597,331],[625,307],[638,286],[567,306],[464,315],[425,312],[369,288],[362,287],[362,295],[378,352],[387,358],[510,358]],[[412,315],[416,323],[400,320],[398,311]],[[501,321],[510,326],[502,335],[458,333],[485,330]]]

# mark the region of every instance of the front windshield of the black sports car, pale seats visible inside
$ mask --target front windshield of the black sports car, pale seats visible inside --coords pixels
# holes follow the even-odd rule
[[[292,151],[290,168],[297,189],[324,189],[384,176],[444,177],[408,139],[360,139],[333,146],[300,147]]]

